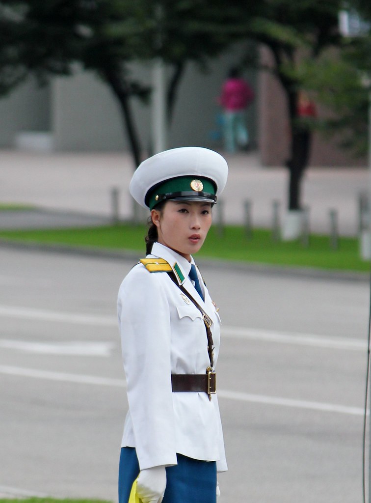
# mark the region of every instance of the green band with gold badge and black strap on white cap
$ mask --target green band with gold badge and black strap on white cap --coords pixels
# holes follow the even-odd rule
[[[179,193],[185,193],[184,196]],[[209,178],[197,176],[177,177],[166,180],[152,188],[146,196],[146,204],[151,210],[164,199],[171,197],[181,197],[187,200],[189,197],[200,197],[200,200],[215,196],[216,187]],[[166,194],[166,198],[163,195]],[[216,199],[216,198],[215,198]]]

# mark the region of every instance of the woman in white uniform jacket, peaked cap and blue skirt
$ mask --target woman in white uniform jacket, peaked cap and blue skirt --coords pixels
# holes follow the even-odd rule
[[[215,503],[217,472],[227,470],[215,373],[220,318],[193,258],[227,175],[218,153],[181,147],[143,161],[130,183],[151,226],[147,257],[118,295],[129,402],[119,503],[137,477],[142,503]]]

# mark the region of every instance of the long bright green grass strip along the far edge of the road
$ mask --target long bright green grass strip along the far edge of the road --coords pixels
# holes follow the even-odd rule
[[[146,232],[146,225],[119,224],[92,228],[0,231],[0,238],[134,250],[138,257],[144,257]],[[340,236],[338,248],[333,249],[328,236],[311,235],[309,246],[304,246],[301,240],[275,241],[272,233],[264,229],[254,229],[248,238],[242,226],[226,226],[223,235],[219,235],[217,227],[213,226],[197,256],[280,266],[369,271],[369,262],[359,257],[359,243],[355,237]]]

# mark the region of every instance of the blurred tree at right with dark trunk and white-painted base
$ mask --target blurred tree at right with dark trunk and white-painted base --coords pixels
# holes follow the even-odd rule
[[[355,2],[370,11],[369,0]],[[290,155],[286,162],[290,173],[289,210],[301,209],[301,181],[309,160],[313,129],[321,126],[332,132],[344,131],[348,125],[347,133],[352,126],[356,127],[357,133],[364,133],[364,113],[356,120],[351,116],[352,107],[364,112],[364,93],[357,95],[359,78],[354,79],[356,70],[351,65],[355,47],[353,54],[348,50],[348,57],[337,58],[344,45],[338,29],[338,14],[343,7],[343,0],[261,0],[256,3],[229,0],[224,13],[221,7],[220,16],[207,24],[211,32],[219,31],[228,34],[231,40],[250,42],[246,45],[241,66],[253,65],[269,71],[281,84],[291,132]],[[251,42],[268,49],[270,64],[264,66],[255,57]],[[363,49],[363,56],[365,52]],[[330,68],[336,71],[329,71]],[[307,91],[315,93],[339,117],[318,121]],[[348,98],[347,106],[344,95]],[[352,103],[351,97],[354,99]],[[354,139],[355,136],[351,138],[348,134],[343,144],[354,146]]]

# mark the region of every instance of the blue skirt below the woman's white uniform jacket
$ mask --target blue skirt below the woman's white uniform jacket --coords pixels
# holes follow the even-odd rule
[[[177,454],[178,464],[166,467],[162,503],[216,503],[215,461],[201,461]],[[122,447],[119,466],[119,503],[128,503],[131,486],[139,475],[133,447]]]

